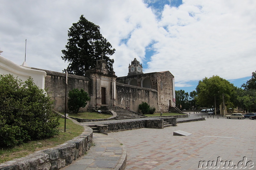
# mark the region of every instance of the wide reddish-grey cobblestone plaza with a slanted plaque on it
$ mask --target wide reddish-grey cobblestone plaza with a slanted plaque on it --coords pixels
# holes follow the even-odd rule
[[[201,113],[198,113],[201,115]],[[198,116],[196,114],[191,116]],[[179,123],[164,129],[135,129],[109,133],[123,143],[127,150],[126,169],[199,169],[199,161],[232,161],[232,166],[245,167],[254,163],[256,169],[256,120],[226,119],[203,115],[205,121]],[[173,136],[173,131],[183,130],[190,136]],[[239,162],[240,161],[240,162]],[[238,164],[239,163],[239,164]],[[202,165],[202,164],[200,164]],[[217,168],[223,167],[217,164]],[[224,164],[223,164],[224,165]],[[214,166],[214,165],[213,165]],[[201,167],[201,166],[199,166]],[[204,167],[204,166],[203,166]],[[210,169],[210,165],[208,168]],[[230,165],[226,168],[231,169]],[[247,168],[248,169],[249,163]],[[202,168],[203,169],[203,168]],[[225,169],[225,168],[222,168]],[[233,168],[234,169],[234,168]]]

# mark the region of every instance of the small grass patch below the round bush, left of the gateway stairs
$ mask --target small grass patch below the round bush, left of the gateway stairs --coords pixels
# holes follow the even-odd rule
[[[65,113],[61,112],[62,115]],[[80,119],[106,119],[111,117],[109,114],[99,114],[99,113],[91,113],[91,112],[80,112],[80,113],[68,113],[69,117],[75,117]]]

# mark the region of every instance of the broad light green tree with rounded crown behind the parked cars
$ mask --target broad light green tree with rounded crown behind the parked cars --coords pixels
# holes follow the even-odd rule
[[[196,102],[201,107],[214,106],[214,98],[216,98],[216,105],[219,106],[223,101],[223,94],[226,104],[229,104],[227,107],[232,107],[236,87],[224,78],[212,76],[210,78],[204,78],[202,81],[200,80],[196,86],[196,92]]]

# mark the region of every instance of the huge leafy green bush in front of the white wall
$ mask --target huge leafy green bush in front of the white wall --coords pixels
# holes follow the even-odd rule
[[[59,133],[53,100],[29,78],[0,75],[0,145],[14,146]]]

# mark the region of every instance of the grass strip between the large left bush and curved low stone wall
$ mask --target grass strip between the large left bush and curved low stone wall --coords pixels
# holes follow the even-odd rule
[[[29,141],[12,148],[0,148],[0,163],[63,144],[66,141],[79,136],[84,131],[84,127],[66,119],[66,132],[64,132],[64,119],[60,119],[59,131],[60,134],[52,138]]]

